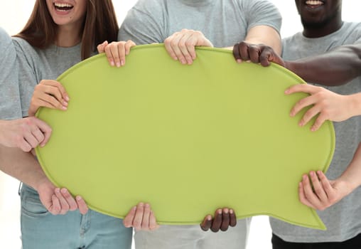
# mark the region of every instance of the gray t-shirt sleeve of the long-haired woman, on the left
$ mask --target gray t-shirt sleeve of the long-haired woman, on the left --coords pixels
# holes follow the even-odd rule
[[[21,112],[23,117],[28,116],[28,109],[30,107],[34,85],[38,82],[36,80],[33,63],[31,63],[32,49],[30,45],[24,46],[25,41],[19,41],[20,38],[13,38],[14,47],[16,50],[16,62],[18,66],[18,85],[21,99]],[[23,44],[24,43],[24,44]],[[27,43],[26,43],[27,45]],[[26,49],[28,47],[28,49]],[[29,94],[31,92],[31,94]]]

